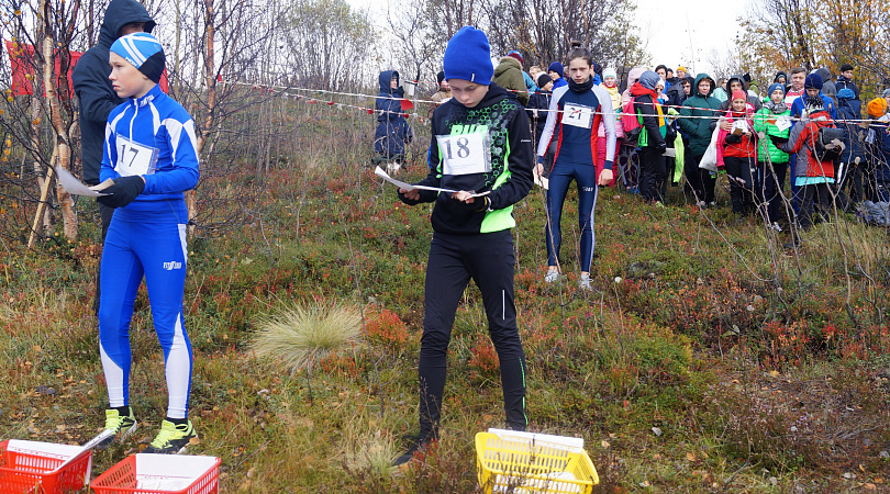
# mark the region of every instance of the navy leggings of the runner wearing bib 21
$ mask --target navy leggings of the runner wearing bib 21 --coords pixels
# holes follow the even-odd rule
[[[559,246],[563,243],[563,229],[559,221],[563,217],[563,203],[566,200],[571,180],[578,184],[578,225],[581,228],[581,248],[578,257],[581,271],[590,272],[593,259],[593,210],[597,206],[597,177],[593,164],[570,165],[557,161],[550,171],[547,190],[547,223],[544,225],[544,237],[547,239],[547,265],[556,266]]]

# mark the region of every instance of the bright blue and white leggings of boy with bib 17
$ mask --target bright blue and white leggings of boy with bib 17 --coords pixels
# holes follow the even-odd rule
[[[191,343],[182,322],[186,225],[112,218],[102,251],[99,351],[112,407],[130,404],[130,319],[145,277],[155,333],[164,349],[167,417],[186,418],[191,388]]]

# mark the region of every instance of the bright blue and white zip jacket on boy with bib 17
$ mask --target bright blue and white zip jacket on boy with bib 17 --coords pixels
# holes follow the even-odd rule
[[[131,175],[145,179],[145,190],[115,210],[115,218],[188,223],[183,192],[194,189],[199,178],[194,121],[159,86],[108,116],[99,179]]]

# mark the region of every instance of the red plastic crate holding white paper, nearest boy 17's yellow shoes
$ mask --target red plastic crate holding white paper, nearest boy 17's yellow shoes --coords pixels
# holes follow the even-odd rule
[[[96,494],[215,494],[220,459],[178,454],[131,454],[97,476]]]

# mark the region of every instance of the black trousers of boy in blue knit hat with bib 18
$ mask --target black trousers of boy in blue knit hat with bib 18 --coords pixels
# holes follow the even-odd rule
[[[488,332],[498,351],[507,424],[514,430],[525,430],[525,352],[516,328],[513,267],[509,229],[476,235],[433,234],[418,363],[421,441],[438,435],[452,327],[470,279],[482,292]]]

